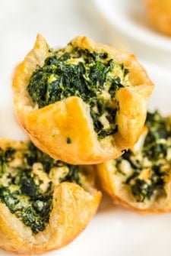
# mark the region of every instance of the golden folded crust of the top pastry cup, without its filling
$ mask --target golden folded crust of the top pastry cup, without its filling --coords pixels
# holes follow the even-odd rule
[[[116,92],[116,100],[119,102],[116,134],[98,140],[89,105],[78,96],[70,96],[40,109],[35,108],[27,92],[30,76],[52,54],[40,34],[36,37],[33,50],[14,72],[12,86],[17,118],[36,147],[55,159],[70,164],[97,164],[119,157],[125,148],[135,144],[141,134],[147,114],[147,99],[154,84],[133,54],[120,53],[84,36],[75,37],[71,45],[90,52],[108,53],[109,58],[122,63],[129,70],[130,86]],[[71,144],[67,143],[67,138],[71,138]]]

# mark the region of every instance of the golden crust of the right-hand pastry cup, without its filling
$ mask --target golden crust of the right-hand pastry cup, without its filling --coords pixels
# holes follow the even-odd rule
[[[144,127],[144,131],[139,138],[138,144],[135,144],[134,151],[137,151],[137,146],[144,143],[144,137],[147,134],[147,128]],[[136,154],[136,153],[135,153]],[[137,157],[137,160],[140,158]],[[141,161],[141,160],[140,160]],[[125,184],[125,173],[128,172],[128,167],[125,165],[125,173],[122,174],[117,172],[116,163],[113,160],[106,161],[102,164],[97,164],[97,175],[100,180],[100,184],[103,187],[103,190],[109,194],[113,203],[125,206],[128,209],[134,209],[140,213],[161,213],[161,212],[169,212],[171,210],[171,166],[168,166],[168,160],[166,162],[166,173],[164,192],[160,191],[158,187],[157,193],[151,197],[151,199],[145,199],[142,202],[138,202],[135,199],[135,196],[131,193],[130,187]],[[133,168],[133,167],[131,167]],[[147,171],[141,170],[140,176],[148,176],[150,171],[150,167]],[[145,188],[144,188],[145,190]],[[158,195],[158,196],[157,196]]]

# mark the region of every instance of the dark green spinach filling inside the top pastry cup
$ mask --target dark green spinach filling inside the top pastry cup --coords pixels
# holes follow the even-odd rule
[[[69,52],[62,49],[51,53],[30,77],[27,92],[33,102],[42,108],[69,96],[78,96],[90,105],[97,138],[115,134],[119,104],[114,96],[124,86],[128,70],[109,59],[108,53],[72,46]]]

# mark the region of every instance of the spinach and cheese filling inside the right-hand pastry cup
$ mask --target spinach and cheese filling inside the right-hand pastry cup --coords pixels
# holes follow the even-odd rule
[[[171,169],[171,125],[169,118],[160,112],[147,113],[148,133],[141,151],[126,151],[116,160],[116,169],[125,175],[125,184],[131,189],[137,202],[150,200],[152,196],[166,195],[164,186]],[[121,170],[122,160],[129,163],[131,174]]]

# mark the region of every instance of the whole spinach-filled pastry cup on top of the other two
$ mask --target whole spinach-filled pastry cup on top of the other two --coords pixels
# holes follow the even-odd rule
[[[14,72],[14,107],[46,154],[70,164],[97,164],[135,144],[153,88],[132,54],[84,36],[52,50],[38,34]]]

